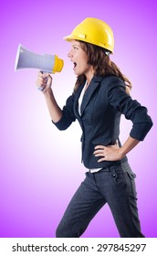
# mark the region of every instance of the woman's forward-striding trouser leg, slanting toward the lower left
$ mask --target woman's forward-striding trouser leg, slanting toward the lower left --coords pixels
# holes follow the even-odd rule
[[[80,237],[87,229],[90,220],[105,203],[105,199],[95,185],[94,176],[87,173],[58,225],[57,238]]]

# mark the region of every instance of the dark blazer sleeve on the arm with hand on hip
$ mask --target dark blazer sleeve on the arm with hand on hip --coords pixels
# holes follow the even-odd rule
[[[126,119],[131,120],[131,137],[143,141],[152,128],[152,119],[148,115],[146,107],[131,99],[131,96],[125,91],[124,82],[118,78],[109,83],[108,98],[114,109],[123,113]]]

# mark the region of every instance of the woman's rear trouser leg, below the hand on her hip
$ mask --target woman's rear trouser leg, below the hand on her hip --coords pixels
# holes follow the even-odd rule
[[[120,237],[143,238],[137,208],[137,193],[135,189],[135,175],[131,167],[125,164],[111,167],[106,190],[106,199],[109,203],[113,218],[119,229]]]

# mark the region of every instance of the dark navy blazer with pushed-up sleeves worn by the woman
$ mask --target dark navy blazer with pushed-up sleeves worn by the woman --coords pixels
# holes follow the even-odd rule
[[[131,137],[142,141],[152,127],[152,119],[147,109],[138,101],[133,101],[125,91],[125,84],[116,76],[93,77],[81,103],[81,116],[78,113],[78,98],[85,83],[67,100],[62,110],[62,118],[55,123],[59,130],[66,130],[78,119],[82,129],[82,161],[87,168],[102,168],[126,162],[103,161],[93,155],[96,145],[110,145],[119,141],[120,115],[131,120]]]

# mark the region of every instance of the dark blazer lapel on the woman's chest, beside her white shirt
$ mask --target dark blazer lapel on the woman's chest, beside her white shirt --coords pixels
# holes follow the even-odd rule
[[[87,89],[87,91],[85,92],[84,96],[83,96],[83,99],[82,99],[82,103],[81,103],[81,106],[80,106],[80,113],[82,114],[84,112],[84,110],[86,109],[86,106],[88,105],[89,103],[89,100],[93,94],[93,92],[97,89],[97,87],[99,86],[99,81],[102,80],[102,77],[94,77],[90,84],[89,84],[89,87]],[[80,93],[79,93],[80,95]]]

